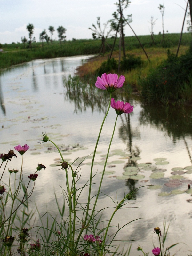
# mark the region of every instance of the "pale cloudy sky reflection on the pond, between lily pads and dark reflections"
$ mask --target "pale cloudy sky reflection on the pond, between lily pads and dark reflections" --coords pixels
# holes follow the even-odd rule
[[[103,113],[98,113],[96,110],[92,113],[91,108],[87,108],[86,112],[76,114],[74,113],[73,102],[69,103],[64,97],[63,76],[73,75],[78,65],[81,65],[81,57],[35,60],[8,69],[2,72],[0,76],[1,101],[4,104],[4,108],[0,112],[1,126],[3,126],[3,128],[0,127],[0,152],[6,152],[17,144],[24,145],[27,143],[30,145],[30,151],[24,155],[24,173],[27,175],[33,173],[37,163],[46,165],[47,168],[39,172],[39,177],[35,183],[36,188],[32,196],[42,213],[46,212],[46,209],[57,212],[57,209],[53,207],[55,201],[53,191],[56,191],[58,198],[62,197],[59,185],[64,186],[62,182],[64,182],[65,176],[62,170],[56,171],[60,167],[50,166],[59,155],[55,152],[44,153],[45,149],[47,150],[46,143],[37,144],[37,139],[42,138],[41,132],[47,132],[50,139],[58,144],[67,146],[79,143],[87,147],[87,149],[66,155],[67,159],[71,159],[69,161],[74,161],[77,157],[85,157],[93,152],[94,143],[104,116]],[[155,126],[150,124],[140,125],[139,117],[142,107],[137,101],[133,101],[133,105],[134,111],[130,115],[132,149],[137,146],[140,150],[139,156],[141,160],[138,160],[138,163],[152,162],[155,164],[154,158],[167,158],[169,164],[158,166],[158,168],[167,169],[164,180],[170,177],[173,167],[191,165],[184,140],[178,139],[176,143],[173,143],[171,137],[166,135],[164,131],[155,128]],[[111,150],[122,149],[128,156],[126,120],[125,116],[122,115],[121,117],[123,120],[119,117]],[[98,146],[98,151],[101,151],[101,154],[106,154],[107,152],[115,118],[115,111],[110,109]],[[124,134],[126,143],[123,143],[122,137],[119,137],[120,131]],[[186,136],[185,140],[191,153],[190,136]],[[40,154],[35,155],[34,153],[36,152]],[[96,162],[101,161],[101,154],[96,155]],[[125,162],[122,164],[112,163],[112,161],[119,159]],[[91,162],[91,160],[86,159],[85,163],[88,162]],[[113,155],[109,157],[109,162],[115,167],[107,167],[106,170],[114,170],[115,174],[105,176],[101,190],[114,200],[116,200],[117,191],[120,201],[125,189],[128,190],[128,187],[125,180],[117,180],[115,176],[122,176],[127,158]],[[18,159],[12,159],[9,167],[19,168],[19,164],[20,156]],[[96,181],[100,176],[99,172],[102,171],[102,167],[103,165],[99,164],[94,167],[94,172],[98,171],[97,178],[95,178]],[[82,181],[79,186],[89,178],[89,171],[90,165],[82,165]],[[159,183],[159,180],[150,179],[151,171],[143,171],[141,169],[140,174],[144,174],[145,178],[141,182],[136,181],[135,187]],[[26,178],[27,175],[24,176],[24,180],[28,180]],[[192,174],[185,175],[186,178],[191,179]],[[187,183],[182,188],[185,186],[185,189],[187,189]],[[177,255],[187,255],[187,250],[192,249],[190,247],[192,210],[191,204],[186,201],[190,199],[190,194],[184,193],[160,197],[158,196],[159,192],[160,190],[141,188],[140,193],[137,195],[137,201],[133,201],[140,204],[140,208],[120,210],[119,214],[115,215],[113,224],[117,224],[120,221],[121,225],[133,219],[144,218],[130,223],[124,228],[121,236],[117,237],[121,240],[136,239],[136,242],[133,242],[132,245],[132,255],[139,255],[135,251],[138,245],[143,246],[146,252],[151,251],[153,249],[152,241],[155,246],[158,246],[157,236],[153,233],[153,229],[159,226],[163,231],[163,220],[166,218],[167,223],[170,222],[166,245],[185,242],[189,247],[180,244],[173,251],[183,247]],[[93,188],[93,194],[95,193],[96,189]],[[108,197],[103,195],[100,197],[98,209],[102,208],[103,205],[112,205],[112,201]],[[81,202],[84,201],[84,198],[86,198],[86,193],[82,193]],[[47,206],[44,203],[47,203]],[[34,205],[33,200],[31,204]],[[134,207],[134,205],[130,206]],[[104,216],[107,216],[106,212],[104,212]]]

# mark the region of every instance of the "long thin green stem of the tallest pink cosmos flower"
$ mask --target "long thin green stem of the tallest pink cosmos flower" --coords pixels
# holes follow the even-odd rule
[[[92,184],[93,164],[94,164],[95,154],[96,154],[97,146],[98,146],[98,143],[99,143],[99,139],[100,139],[101,131],[102,131],[102,128],[103,128],[103,124],[105,122],[105,119],[108,115],[108,112],[109,112],[109,109],[110,109],[110,106],[111,106],[111,97],[112,97],[112,93],[110,93],[110,100],[109,100],[108,110],[107,110],[107,112],[104,116],[103,122],[102,122],[101,127],[100,127],[99,135],[98,135],[98,138],[97,138],[97,141],[96,141],[96,144],[95,144],[95,149],[94,149],[92,164],[91,164],[91,171],[90,171],[89,194],[88,194],[88,199],[87,199],[87,210],[86,210],[86,215],[85,215],[84,222],[82,223],[82,229],[80,230],[79,235],[77,237],[76,247],[77,247],[79,239],[80,239],[80,237],[81,237],[81,235],[82,235],[82,233],[85,229],[85,224],[87,222],[87,218],[88,218],[88,215],[89,215],[89,204],[90,204],[90,198],[91,198],[91,184]]]

